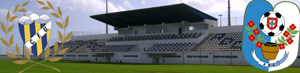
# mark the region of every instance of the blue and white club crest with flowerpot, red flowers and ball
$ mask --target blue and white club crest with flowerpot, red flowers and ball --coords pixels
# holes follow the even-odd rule
[[[290,66],[298,55],[299,28],[300,13],[294,3],[284,1],[273,8],[268,1],[251,1],[244,16],[244,58],[268,72]]]

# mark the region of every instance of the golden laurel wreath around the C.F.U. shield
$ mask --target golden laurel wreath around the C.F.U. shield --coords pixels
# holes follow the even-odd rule
[[[58,9],[55,10],[55,9],[53,8],[52,4],[51,4],[50,2],[48,2],[48,1],[47,1],[47,4],[48,4],[48,5],[46,5],[46,4],[45,4],[44,2],[42,2],[42,1],[38,1],[38,0],[37,0],[37,2],[38,2],[39,4],[45,6],[45,7],[42,7],[41,9],[44,9],[44,10],[52,9],[52,10],[54,10],[54,11],[56,12],[56,13],[50,13],[50,14],[51,14],[52,16],[56,17],[56,18],[60,18],[60,19],[61,19],[62,23],[56,22],[56,21],[55,21],[55,23],[58,25],[58,27],[64,29],[64,34],[66,34],[66,31],[65,31],[65,30],[66,30],[66,28],[67,28],[67,26],[68,26],[68,24],[69,24],[69,16],[67,16],[66,19],[63,20],[63,18],[62,18],[62,12],[61,12],[59,6],[58,6]],[[21,7],[25,7],[28,3],[29,3],[29,1],[23,3]],[[25,11],[25,10],[26,10],[26,9],[24,9],[24,8],[19,7],[19,5],[20,5],[20,4],[17,4],[17,5],[16,5],[16,7],[14,8],[14,11],[13,11],[12,14],[10,14],[10,11],[8,10],[7,15],[6,15],[6,20],[7,20],[6,26],[3,24],[2,21],[0,21],[0,23],[1,23],[1,29],[2,29],[2,31],[5,33],[5,36],[6,36],[6,40],[3,39],[3,38],[1,38],[1,37],[0,37],[0,40],[2,41],[2,43],[3,43],[5,46],[9,47],[10,50],[13,52],[13,54],[12,54],[12,53],[8,53],[8,52],[5,52],[5,54],[7,54],[7,56],[9,56],[9,57],[11,57],[11,58],[17,58],[17,57],[18,57],[18,58],[22,59],[22,60],[16,60],[16,61],[13,61],[13,63],[20,64],[20,65],[25,64],[25,63],[27,63],[27,62],[32,62],[32,63],[35,63],[35,64],[32,65],[32,66],[35,66],[35,65],[37,65],[37,64],[40,64],[40,65],[43,65],[43,66],[47,66],[47,65],[41,64],[41,63],[44,62],[44,61],[46,61],[46,60],[49,60],[49,61],[51,61],[51,62],[56,62],[56,61],[58,61],[58,60],[61,60],[61,59],[62,59],[61,57],[53,57],[53,56],[54,56],[55,54],[64,54],[64,53],[69,49],[69,48],[64,48],[64,49],[61,49],[61,48],[62,48],[62,46],[64,45],[64,42],[66,42],[67,40],[70,39],[70,36],[71,36],[72,32],[68,33],[67,36],[65,36],[65,35],[63,36],[63,35],[61,34],[60,31],[57,31],[57,32],[58,32],[58,36],[59,36],[59,40],[62,41],[61,46],[59,47],[57,41],[55,41],[55,45],[54,45],[54,51],[55,51],[55,52],[54,52],[54,54],[53,54],[52,56],[50,56],[50,57],[49,57],[49,54],[50,54],[50,48],[49,48],[49,46],[48,46],[48,48],[47,48],[46,51],[44,52],[44,57],[45,57],[45,59],[44,59],[43,61],[41,61],[41,62],[38,62],[38,63],[37,63],[37,62],[33,62],[33,61],[30,59],[30,54],[29,54],[29,52],[28,52],[27,50],[25,50],[25,48],[23,48],[23,49],[24,49],[24,54],[25,54],[26,59],[20,56],[20,50],[19,50],[17,44],[16,44],[16,47],[15,47],[16,50],[15,50],[15,51],[12,50],[11,45],[13,45],[13,34],[10,36],[10,39],[9,39],[9,40],[8,40],[8,38],[7,38],[7,34],[10,33],[10,31],[12,31],[14,25],[11,25],[11,26],[8,27],[8,28],[7,28],[7,26],[8,26],[8,23],[9,23],[9,22],[12,22],[13,20],[15,20],[15,19],[18,17],[18,16],[13,16],[13,14],[14,14],[15,12],[17,12],[17,11],[18,11],[18,12],[22,12],[22,11]],[[59,47],[59,48],[58,48],[58,47]],[[53,58],[52,58],[52,57],[53,57]],[[24,72],[25,70],[31,68],[32,66],[29,66],[28,68],[23,69],[23,70],[20,71],[19,73]],[[60,72],[59,69],[56,69],[56,68],[54,68],[54,67],[51,67],[51,66],[47,66],[47,67],[50,67],[50,68],[55,69],[56,71]]]

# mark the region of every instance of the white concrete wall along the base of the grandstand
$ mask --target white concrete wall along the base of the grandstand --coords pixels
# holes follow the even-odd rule
[[[241,51],[180,51],[174,54],[145,54],[145,52],[114,52],[113,54],[97,54],[103,57],[92,57],[95,52],[66,52],[62,60],[94,62],[120,62],[122,63],[156,63],[158,64],[201,64],[201,65],[235,65],[251,66],[243,57]],[[51,54],[50,54],[51,55]],[[76,55],[76,57],[66,57],[66,55]],[[89,55],[88,57],[78,57],[78,55]],[[123,57],[123,55],[137,55],[138,57]],[[181,57],[163,57],[181,56]],[[208,56],[208,58],[187,57],[187,56]],[[214,58],[214,56],[237,56],[237,58]],[[108,58],[110,57],[110,59]],[[159,57],[159,60],[156,58]],[[97,61],[96,61],[97,58]],[[41,55],[44,59],[44,53]],[[300,67],[300,60],[296,60],[291,67]]]

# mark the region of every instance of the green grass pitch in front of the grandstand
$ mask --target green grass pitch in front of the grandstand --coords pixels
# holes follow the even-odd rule
[[[33,65],[18,65],[15,60],[0,60],[0,73],[16,73]],[[36,61],[39,62],[39,61]],[[267,73],[253,66],[216,66],[182,64],[138,64],[138,63],[99,63],[79,61],[45,61],[43,64],[61,70],[61,73]],[[289,67],[270,73],[299,73],[300,68]],[[58,73],[42,65],[35,65],[23,73]]]

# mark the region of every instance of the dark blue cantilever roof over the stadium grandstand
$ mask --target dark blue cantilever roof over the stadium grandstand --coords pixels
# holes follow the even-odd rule
[[[203,19],[217,21],[216,18],[203,13],[187,4],[173,4],[160,7],[151,7],[137,10],[127,10],[90,16],[114,27],[127,28],[143,26],[144,24],[157,25],[165,23],[179,23],[181,21],[203,22]]]

